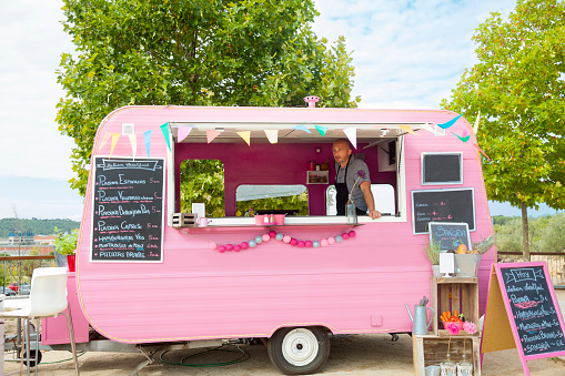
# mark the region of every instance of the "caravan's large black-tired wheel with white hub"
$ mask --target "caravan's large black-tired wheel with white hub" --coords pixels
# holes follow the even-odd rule
[[[315,374],[330,356],[330,337],[321,326],[283,327],[269,339],[266,349],[283,374]]]

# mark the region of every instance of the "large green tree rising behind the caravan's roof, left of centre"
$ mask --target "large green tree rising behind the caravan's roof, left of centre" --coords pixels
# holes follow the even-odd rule
[[[64,0],[61,133],[74,139],[71,186],[85,192],[95,131],[128,104],[355,106],[344,39],[311,29],[312,0]],[[216,171],[214,171],[215,173]]]

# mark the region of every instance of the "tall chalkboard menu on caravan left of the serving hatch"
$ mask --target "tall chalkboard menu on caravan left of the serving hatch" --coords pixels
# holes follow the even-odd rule
[[[164,161],[94,162],[91,260],[161,262]]]

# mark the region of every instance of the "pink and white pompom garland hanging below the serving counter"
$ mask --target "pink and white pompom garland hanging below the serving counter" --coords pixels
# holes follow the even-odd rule
[[[254,248],[259,244],[268,243],[271,238],[274,238],[275,241],[283,242],[285,244],[290,244],[292,246],[297,246],[297,247],[301,247],[301,248],[304,248],[304,247],[305,248],[319,248],[321,246],[324,247],[324,246],[329,246],[329,245],[332,245],[332,244],[335,244],[335,243],[341,243],[341,242],[346,241],[349,238],[353,238],[357,234],[355,233],[355,231],[352,230],[352,231],[349,231],[349,232],[344,232],[344,233],[342,233],[340,235],[322,238],[320,241],[310,241],[310,240],[301,241],[301,240],[297,240],[297,238],[292,237],[290,235],[278,233],[278,232],[271,230],[270,232],[268,232],[268,233],[265,233],[263,235],[258,235],[254,238],[252,238],[252,240],[250,240],[248,242],[242,242],[240,244],[221,244],[221,245],[218,245],[214,242],[210,242],[210,243],[208,243],[208,247],[210,250],[218,250],[220,253],[224,253],[224,252],[229,252],[229,251],[240,252],[242,250]]]

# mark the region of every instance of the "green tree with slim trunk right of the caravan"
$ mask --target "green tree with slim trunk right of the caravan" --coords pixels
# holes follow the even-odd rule
[[[478,62],[443,100],[475,120],[490,200],[522,209],[523,253],[529,258],[527,209],[565,207],[565,2],[518,0],[476,30]]]

